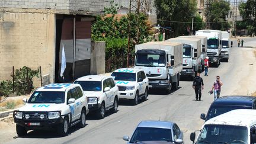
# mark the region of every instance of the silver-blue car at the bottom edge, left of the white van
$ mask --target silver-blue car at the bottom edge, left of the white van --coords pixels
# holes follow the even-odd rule
[[[170,121],[141,121],[132,137],[124,136],[127,143],[183,143],[183,132]]]

